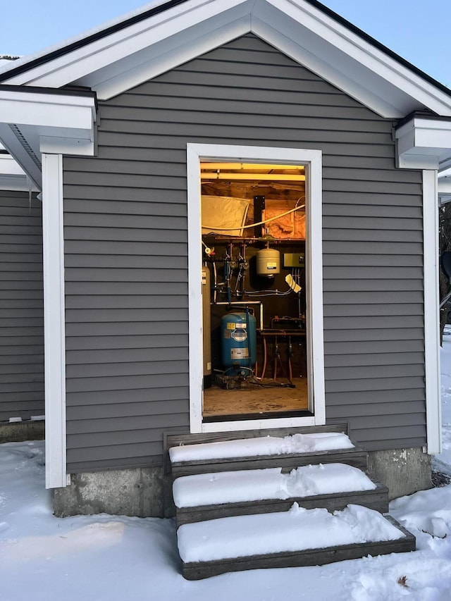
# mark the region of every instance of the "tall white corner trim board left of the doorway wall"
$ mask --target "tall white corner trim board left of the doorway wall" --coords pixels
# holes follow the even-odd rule
[[[63,157],[42,154],[46,488],[66,486]]]

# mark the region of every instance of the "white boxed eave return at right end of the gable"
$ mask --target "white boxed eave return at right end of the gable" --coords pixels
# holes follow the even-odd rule
[[[451,120],[412,117],[395,139],[399,167],[438,170],[451,157]]]

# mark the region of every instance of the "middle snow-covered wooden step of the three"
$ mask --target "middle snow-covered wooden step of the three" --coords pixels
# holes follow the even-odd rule
[[[388,488],[346,464],[223,471],[173,483],[177,525],[219,517],[287,511],[294,502],[329,511],[359,504],[388,512]]]

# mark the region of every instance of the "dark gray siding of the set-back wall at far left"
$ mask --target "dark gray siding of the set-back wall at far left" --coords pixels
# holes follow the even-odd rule
[[[42,205],[0,190],[0,422],[44,415]]]

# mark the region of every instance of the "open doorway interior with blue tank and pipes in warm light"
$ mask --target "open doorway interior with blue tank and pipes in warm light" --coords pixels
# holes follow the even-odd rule
[[[301,164],[202,160],[204,423],[311,415]]]

